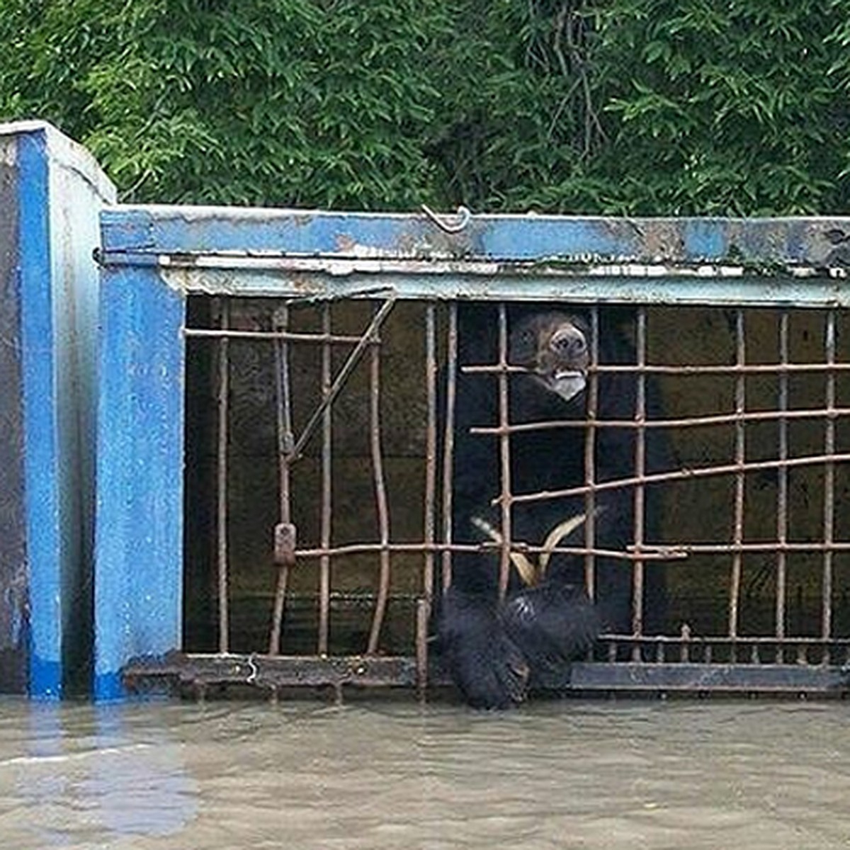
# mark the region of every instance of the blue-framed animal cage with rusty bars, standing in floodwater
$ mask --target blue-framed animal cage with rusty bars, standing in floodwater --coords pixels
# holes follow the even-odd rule
[[[460,551],[627,570],[631,628],[570,693],[843,694],[850,648],[850,327],[836,220],[438,218],[127,208],[103,217],[96,613],[102,695],[166,682],[447,684],[435,611]],[[513,493],[518,305],[594,329],[569,492]],[[487,345],[463,317],[490,318]],[[600,328],[628,341],[600,355]],[[473,344],[475,343],[475,344]],[[473,354],[471,354],[473,352]],[[598,405],[633,376],[627,416]],[[496,396],[489,541],[453,536],[458,377]],[[658,403],[649,399],[657,397]],[[597,480],[599,433],[632,433]],[[647,445],[664,434],[665,462]],[[512,536],[524,502],[632,496],[629,544]],[[649,498],[650,494],[653,498]],[[666,587],[661,610],[647,588]],[[649,627],[650,620],[655,624]]]

